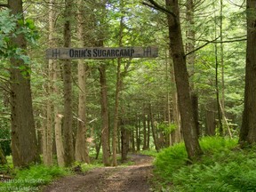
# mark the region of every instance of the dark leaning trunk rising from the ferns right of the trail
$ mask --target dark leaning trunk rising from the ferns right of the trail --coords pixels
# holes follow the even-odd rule
[[[172,51],[175,82],[178,92],[182,132],[188,152],[188,158],[193,159],[200,156],[203,152],[200,148],[196,134],[196,124],[192,110],[188,71],[180,30],[179,5],[178,0],[165,0],[165,2],[167,9],[173,14],[168,14],[167,19],[169,27],[170,49]]]

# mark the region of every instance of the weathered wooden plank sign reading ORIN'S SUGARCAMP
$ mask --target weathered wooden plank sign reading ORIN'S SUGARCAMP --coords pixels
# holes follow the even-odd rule
[[[52,48],[46,50],[48,60],[156,58],[157,47],[84,47]]]

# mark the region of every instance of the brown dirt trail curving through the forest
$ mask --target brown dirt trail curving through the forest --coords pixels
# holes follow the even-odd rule
[[[127,167],[102,167],[90,172],[56,180],[44,192],[148,192],[153,158],[129,156],[134,162]]]

